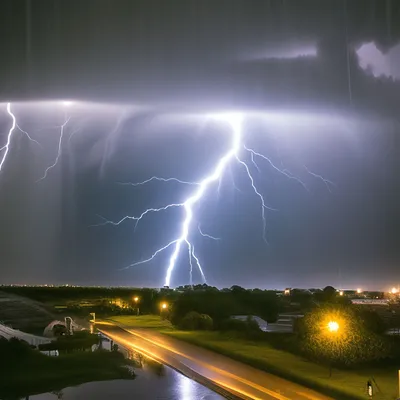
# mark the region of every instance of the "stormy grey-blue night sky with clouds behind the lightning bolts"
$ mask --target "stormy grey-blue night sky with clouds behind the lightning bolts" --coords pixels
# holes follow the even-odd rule
[[[218,287],[400,284],[400,3],[382,0],[6,0],[0,6],[0,283],[158,287],[182,202],[231,141],[209,114],[241,112],[243,159],[194,209],[191,240]],[[63,100],[71,100],[66,106]],[[59,126],[70,117],[58,164]],[[3,153],[1,153],[3,154]],[[330,190],[315,174],[335,183]],[[235,188],[236,187],[236,188]],[[197,230],[220,238],[202,238]],[[194,281],[201,282],[194,269]],[[187,250],[172,286],[189,283]]]

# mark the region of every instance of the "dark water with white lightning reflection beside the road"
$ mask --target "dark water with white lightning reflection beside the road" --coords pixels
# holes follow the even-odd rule
[[[137,379],[85,383],[57,393],[30,396],[29,400],[221,400],[222,396],[210,389],[164,367],[162,376],[145,366],[136,370]],[[61,396],[61,397],[60,397]]]

